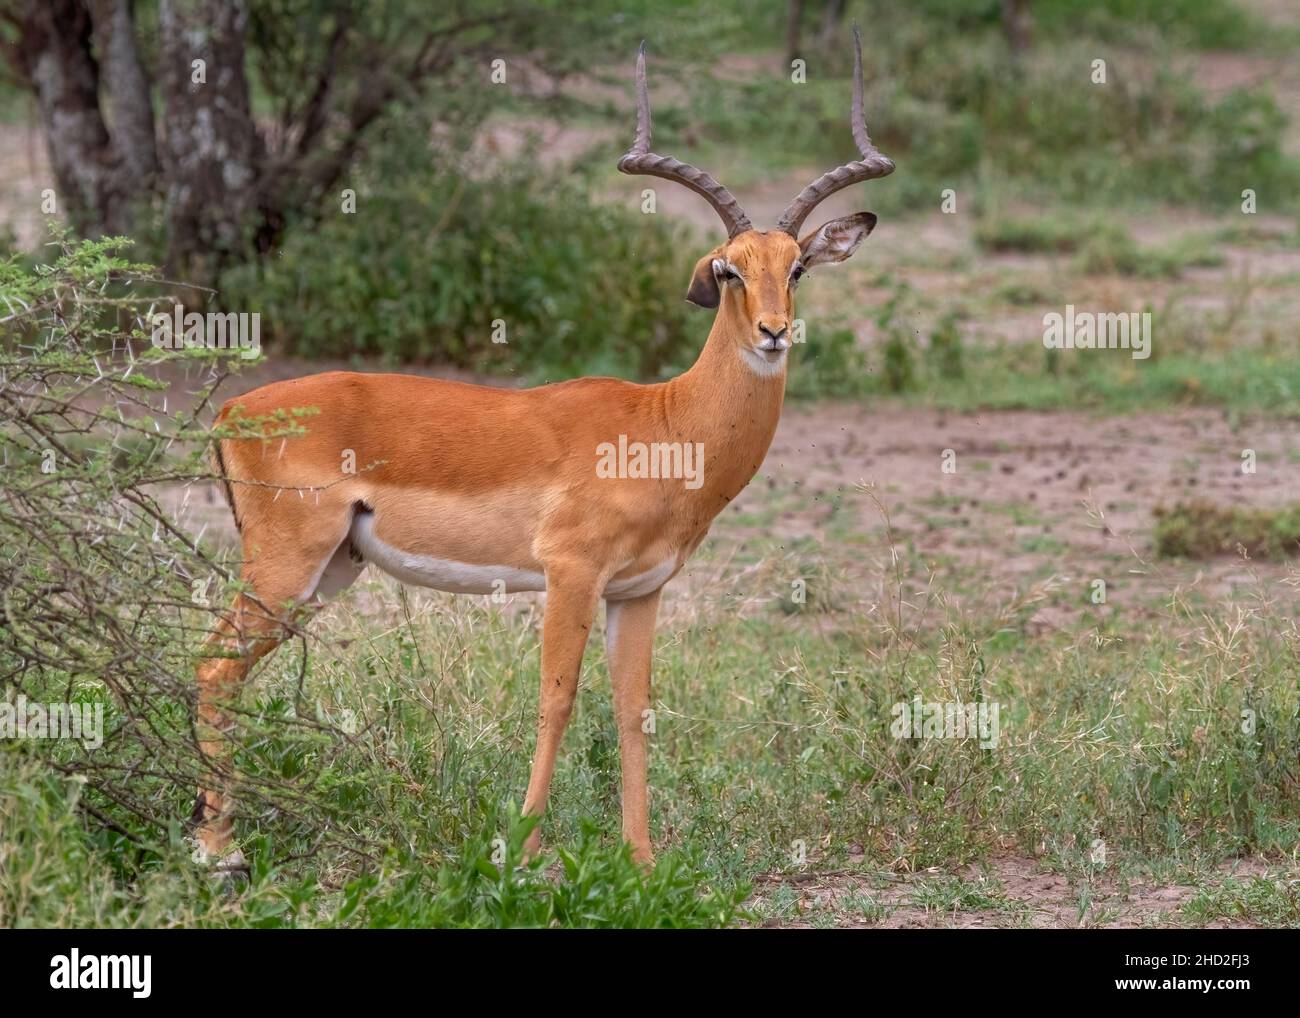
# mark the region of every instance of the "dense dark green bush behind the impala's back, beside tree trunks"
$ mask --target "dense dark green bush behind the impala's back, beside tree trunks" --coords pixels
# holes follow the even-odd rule
[[[228,273],[222,303],[261,312],[264,338],[300,356],[533,380],[689,364],[707,324],[680,298],[693,267],[680,228],[536,168],[460,176],[412,148],[396,133],[355,215],[329,209],[274,259]]]

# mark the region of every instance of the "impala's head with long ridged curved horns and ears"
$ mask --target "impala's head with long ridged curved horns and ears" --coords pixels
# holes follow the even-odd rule
[[[794,289],[812,268],[844,261],[858,250],[876,225],[871,212],[831,220],[802,238],[809,213],[826,198],[853,183],[893,173],[890,159],[881,155],[867,135],[862,100],[862,36],[853,29],[853,140],[862,159],[823,173],[805,187],[781,213],[771,230],[755,230],[740,203],[723,185],[689,163],[650,151],[650,92],[646,86],[645,43],[637,55],[637,134],[632,148],[619,160],[623,173],[647,174],[676,181],[701,195],[727,228],[727,242],[696,264],[686,299],[699,307],[718,308],[740,337],[741,352],[760,372],[775,373],[790,348],[794,328]]]

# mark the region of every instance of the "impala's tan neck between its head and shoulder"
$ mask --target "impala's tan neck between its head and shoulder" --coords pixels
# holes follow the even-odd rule
[[[714,512],[740,494],[758,472],[776,433],[785,398],[785,361],[759,373],[742,350],[753,326],[733,302],[723,300],[708,341],[689,371],[667,384],[666,411],[681,441],[703,442],[699,491]]]

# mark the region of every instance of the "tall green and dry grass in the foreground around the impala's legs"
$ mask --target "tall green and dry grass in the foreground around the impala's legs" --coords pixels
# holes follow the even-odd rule
[[[74,781],[6,748],[0,922],[711,926],[789,917],[780,900],[755,913],[741,902],[757,878],[801,868],[953,870],[1014,850],[1087,874],[1098,837],[1119,867],[1300,846],[1300,662],[1277,620],[1244,615],[1228,644],[1190,610],[1105,641],[1031,638],[1014,612],[880,624],[844,592],[798,611],[780,603],[786,564],[767,566],[745,569],[771,588],[766,607],[697,595],[660,633],[650,774],[660,857],[649,876],[618,839],[618,740],[597,641],[545,823],[551,849],[524,867],[528,822],[510,803],[526,781],[536,614],[430,595],[394,625],[400,602],[376,582],[364,614],[343,605],[318,623],[298,712],[322,728],[259,727],[240,750],[244,774],[309,775],[313,789],[302,819],[244,819],[246,888],[230,896],[199,875],[179,826],[124,842],[78,810]],[[294,714],[299,666],[295,651],[270,659],[254,715]],[[914,696],[997,702],[1000,744],[892,737],[890,705]],[[1245,705],[1260,719],[1249,736]],[[152,794],[179,818],[191,792]],[[914,904],[1008,907],[994,885],[956,879],[919,885]]]

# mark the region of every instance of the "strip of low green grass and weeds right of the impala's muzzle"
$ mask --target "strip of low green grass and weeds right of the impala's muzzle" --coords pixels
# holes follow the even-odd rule
[[[1122,242],[1121,242],[1122,243]],[[1117,248],[1117,250],[1122,250]],[[1180,272],[1205,260],[1199,243],[1170,244],[1140,274]],[[1238,412],[1300,415],[1300,358],[1294,343],[1235,347],[1231,308],[1205,315],[1169,304],[1153,311],[1160,322],[1148,360],[1127,350],[1062,351],[1026,339],[998,337],[979,343],[962,338],[959,306],[939,311],[907,283],[885,278],[890,295],[876,312],[875,334],[862,342],[849,328],[814,328],[794,347],[789,373],[793,399],[878,399],[898,395],[918,406],[945,410],[1060,410],[1109,412],[1154,407],[1223,407]],[[1057,299],[1017,286],[1030,303]],[[923,322],[930,341],[916,335]],[[915,324],[911,324],[915,322]]]

